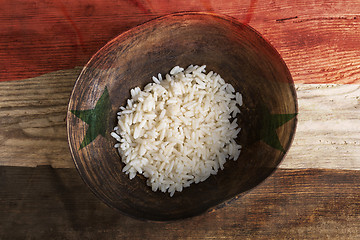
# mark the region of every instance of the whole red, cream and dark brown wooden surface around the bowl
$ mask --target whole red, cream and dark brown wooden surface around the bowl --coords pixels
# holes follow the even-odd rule
[[[0,239],[360,237],[360,1],[1,3]],[[249,194],[183,222],[147,223],[82,183],[66,105],[81,66],[107,41],[183,10],[229,14],[276,47],[298,88],[298,129],[282,169]]]

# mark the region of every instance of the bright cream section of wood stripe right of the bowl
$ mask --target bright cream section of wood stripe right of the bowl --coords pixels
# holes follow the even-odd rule
[[[299,122],[280,167],[360,170],[360,85],[296,87]]]

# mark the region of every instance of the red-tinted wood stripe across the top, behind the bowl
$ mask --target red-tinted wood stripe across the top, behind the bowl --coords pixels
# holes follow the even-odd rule
[[[84,65],[106,42],[154,17],[212,11],[249,23],[297,83],[359,83],[358,0],[3,1],[0,81]]]

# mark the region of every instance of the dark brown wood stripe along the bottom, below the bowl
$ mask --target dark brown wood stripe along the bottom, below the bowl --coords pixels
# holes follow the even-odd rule
[[[75,169],[0,167],[0,239],[358,239],[360,172],[277,170],[216,211],[144,222],[100,202]]]

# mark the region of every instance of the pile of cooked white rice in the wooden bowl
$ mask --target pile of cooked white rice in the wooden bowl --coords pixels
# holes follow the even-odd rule
[[[111,133],[130,179],[142,174],[153,191],[173,196],[238,159],[242,96],[205,67],[176,66],[165,79],[152,77],[143,91],[131,89]]]

